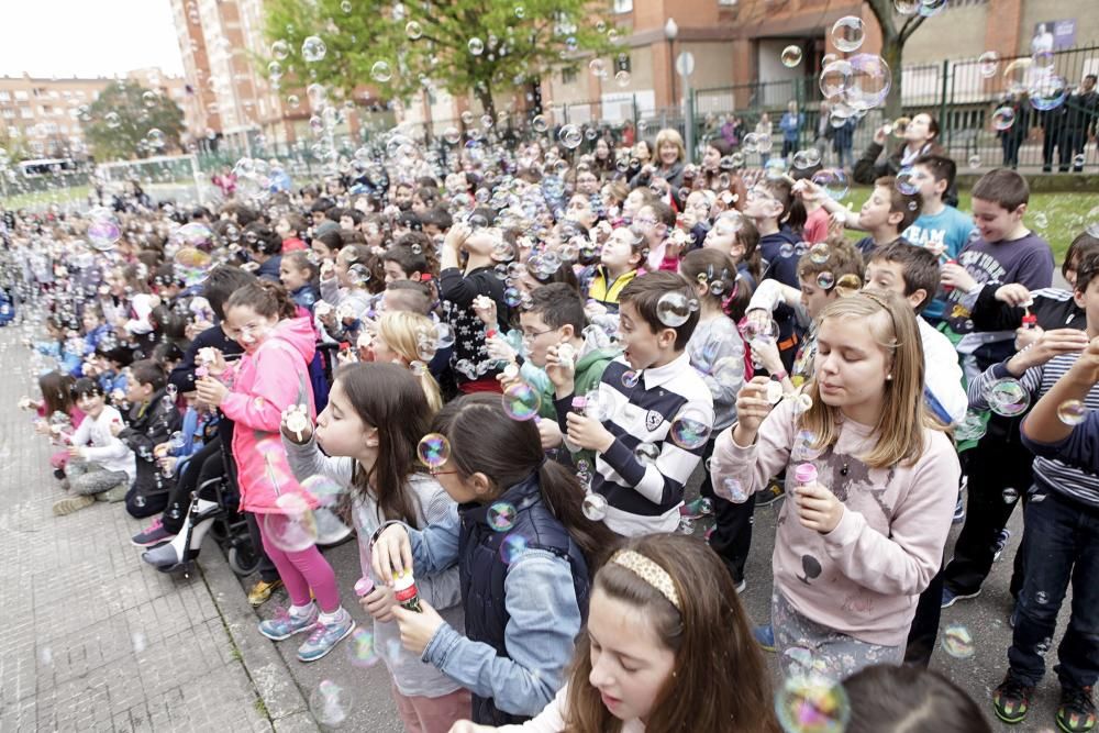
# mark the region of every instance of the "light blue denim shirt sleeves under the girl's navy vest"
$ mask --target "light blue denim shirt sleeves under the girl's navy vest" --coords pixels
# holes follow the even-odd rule
[[[408,532],[415,573],[437,573],[458,562],[457,507],[444,521]],[[569,563],[550,552],[528,549],[509,566],[506,590],[507,657],[444,623],[422,658],[474,695],[492,698],[498,709],[535,715],[564,684],[582,623]]]

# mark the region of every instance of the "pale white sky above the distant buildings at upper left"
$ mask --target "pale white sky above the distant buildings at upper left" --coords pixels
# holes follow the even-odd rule
[[[169,0],[3,0],[0,76],[181,76]]]

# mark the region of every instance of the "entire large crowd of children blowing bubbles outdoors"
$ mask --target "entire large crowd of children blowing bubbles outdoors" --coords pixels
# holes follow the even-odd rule
[[[925,667],[1021,500],[992,709],[1026,717],[1072,582],[1056,722],[1091,731],[1099,223],[1051,288],[1025,179],[988,173],[970,216],[933,118],[911,129],[901,165],[859,160],[857,214],[722,141],[686,165],[671,130],[636,166],[534,142],[412,177],[423,151],[379,149],[386,185],[217,213],[7,212],[54,512],[124,501],[165,571],[240,512],[249,600],[290,603],[259,633],[320,659],[357,643],[356,599],[408,731],[825,730],[811,708],[983,732]],[[777,499],[753,624],[753,512]],[[357,533],[354,588],[322,512]]]

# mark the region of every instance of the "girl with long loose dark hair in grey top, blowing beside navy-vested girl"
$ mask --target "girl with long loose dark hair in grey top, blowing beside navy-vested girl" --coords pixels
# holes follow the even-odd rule
[[[373,646],[393,677],[393,698],[404,728],[445,733],[452,722],[469,714],[469,691],[401,648],[400,630],[393,623],[393,593],[387,586],[374,585],[369,547],[370,536],[382,522],[422,527],[443,521],[454,508],[443,487],[417,459],[417,443],[428,432],[434,410],[407,368],[349,364],[336,373],[329,404],[317,417],[315,440],[308,421],[295,424],[295,412],[300,414],[300,409],[291,407],[282,418],[282,445],[295,476],[318,489],[328,479],[332,489],[349,489],[354,497],[363,566],[355,590],[375,618]],[[458,568],[417,582],[420,598],[441,609],[448,624],[462,629]],[[357,635],[352,643],[359,646]]]

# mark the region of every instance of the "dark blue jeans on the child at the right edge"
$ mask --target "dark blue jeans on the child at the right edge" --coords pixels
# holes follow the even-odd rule
[[[1073,612],[1054,668],[1066,687],[1087,687],[1099,678],[1099,511],[1041,485],[1025,512],[1026,577],[1019,593],[1019,617],[1008,649],[1013,676],[1037,685],[1045,674],[1043,653],[1053,644],[1057,612],[1073,581]]]

